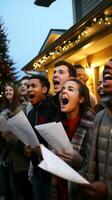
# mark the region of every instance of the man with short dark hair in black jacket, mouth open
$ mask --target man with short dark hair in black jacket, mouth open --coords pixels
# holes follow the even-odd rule
[[[40,144],[44,144],[45,146],[48,146],[47,142],[39,135],[35,129],[35,125],[52,122],[56,115],[57,107],[52,101],[52,98],[48,96],[49,88],[50,83],[45,76],[35,75],[30,77],[28,82],[28,95],[32,109],[28,113],[28,119],[35,130]],[[26,154],[28,151],[29,149],[26,147]],[[30,154],[33,164],[35,200],[50,200],[51,174],[37,167],[40,159],[42,159],[41,155],[35,154],[34,150]]]

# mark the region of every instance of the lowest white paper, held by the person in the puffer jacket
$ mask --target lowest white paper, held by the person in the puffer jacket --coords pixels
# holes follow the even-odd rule
[[[41,151],[43,161],[38,165],[41,169],[78,184],[89,184],[78,172],[43,145],[41,145]]]

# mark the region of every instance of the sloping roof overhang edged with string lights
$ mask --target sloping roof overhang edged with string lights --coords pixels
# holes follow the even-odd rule
[[[111,45],[112,41],[111,25],[112,0],[105,0],[51,45],[40,52],[33,60],[25,65],[22,70],[39,70],[41,67],[45,67],[50,63],[55,63],[60,59],[62,60],[73,56],[79,49],[83,49],[84,51],[84,46],[86,49],[87,44],[91,47],[89,48],[88,46],[88,51],[90,53],[90,49],[94,51],[93,41],[98,43],[102,39],[102,41],[100,41],[100,46],[106,48],[106,45]]]

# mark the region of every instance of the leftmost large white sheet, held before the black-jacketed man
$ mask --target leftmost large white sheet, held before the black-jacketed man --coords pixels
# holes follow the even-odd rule
[[[31,147],[39,144],[38,138],[23,111],[8,119],[8,125],[10,131],[24,144]]]

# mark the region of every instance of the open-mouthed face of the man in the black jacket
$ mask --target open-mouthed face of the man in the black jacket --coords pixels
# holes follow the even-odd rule
[[[39,79],[31,79],[27,85],[29,101],[32,105],[38,104],[45,99],[46,87],[42,87]]]

